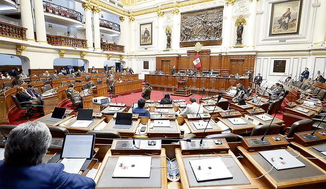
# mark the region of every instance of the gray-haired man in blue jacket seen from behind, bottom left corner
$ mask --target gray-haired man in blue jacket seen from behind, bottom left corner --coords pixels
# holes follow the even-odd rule
[[[1,188],[95,188],[93,179],[64,172],[63,164],[42,164],[51,142],[48,127],[25,122],[11,130],[0,161]]]

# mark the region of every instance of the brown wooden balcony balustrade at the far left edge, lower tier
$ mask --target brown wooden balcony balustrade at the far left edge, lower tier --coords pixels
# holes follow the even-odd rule
[[[0,21],[0,36],[25,40],[27,29]]]

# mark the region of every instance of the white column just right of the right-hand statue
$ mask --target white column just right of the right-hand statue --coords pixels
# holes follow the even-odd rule
[[[257,17],[257,1],[253,0],[250,5],[250,17],[247,24],[247,47],[255,46],[256,35],[256,17]]]

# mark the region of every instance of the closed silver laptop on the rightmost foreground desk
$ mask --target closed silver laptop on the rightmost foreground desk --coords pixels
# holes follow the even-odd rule
[[[285,149],[260,151],[258,153],[263,156],[269,164],[274,165],[275,169],[277,170],[300,168],[306,166]]]

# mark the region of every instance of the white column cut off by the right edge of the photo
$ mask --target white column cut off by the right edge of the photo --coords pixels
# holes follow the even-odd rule
[[[314,34],[312,38],[313,44],[324,44],[326,35],[326,1],[319,1],[320,7],[317,8]]]

